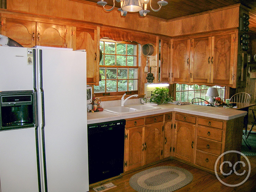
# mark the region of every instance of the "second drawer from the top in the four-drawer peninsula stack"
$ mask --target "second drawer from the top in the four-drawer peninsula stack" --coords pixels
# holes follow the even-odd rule
[[[204,137],[207,139],[213,139],[216,141],[221,141],[222,131],[215,128],[200,127],[198,126],[197,136]]]

